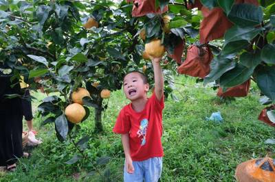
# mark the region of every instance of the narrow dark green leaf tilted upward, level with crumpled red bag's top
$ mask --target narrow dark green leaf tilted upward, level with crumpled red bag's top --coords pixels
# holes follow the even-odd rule
[[[248,47],[249,42],[247,40],[238,40],[235,42],[228,42],[227,44],[223,44],[223,50],[221,53],[223,55],[236,55],[245,47]]]

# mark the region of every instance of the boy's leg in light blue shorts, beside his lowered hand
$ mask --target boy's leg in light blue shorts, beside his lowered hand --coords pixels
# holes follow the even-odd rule
[[[126,171],[124,165],[124,182],[142,182],[144,179],[144,170],[142,168],[142,161],[133,161],[133,174]]]

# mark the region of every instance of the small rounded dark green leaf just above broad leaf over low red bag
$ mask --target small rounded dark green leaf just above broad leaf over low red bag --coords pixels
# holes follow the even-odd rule
[[[256,53],[245,52],[240,56],[241,64],[247,68],[255,68],[261,63],[261,61],[260,51],[256,51]]]

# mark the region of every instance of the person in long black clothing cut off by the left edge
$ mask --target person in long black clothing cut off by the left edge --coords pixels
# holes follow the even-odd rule
[[[6,94],[22,94],[18,79],[13,71],[0,62],[0,166],[7,170],[16,168],[17,159],[23,156],[22,148],[22,99],[15,96],[7,99]]]

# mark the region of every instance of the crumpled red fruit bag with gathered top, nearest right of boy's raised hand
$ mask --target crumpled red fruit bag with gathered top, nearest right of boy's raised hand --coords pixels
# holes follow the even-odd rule
[[[203,78],[210,72],[212,59],[213,55],[209,47],[198,48],[195,45],[191,45],[188,47],[186,60],[177,68],[177,72]]]

